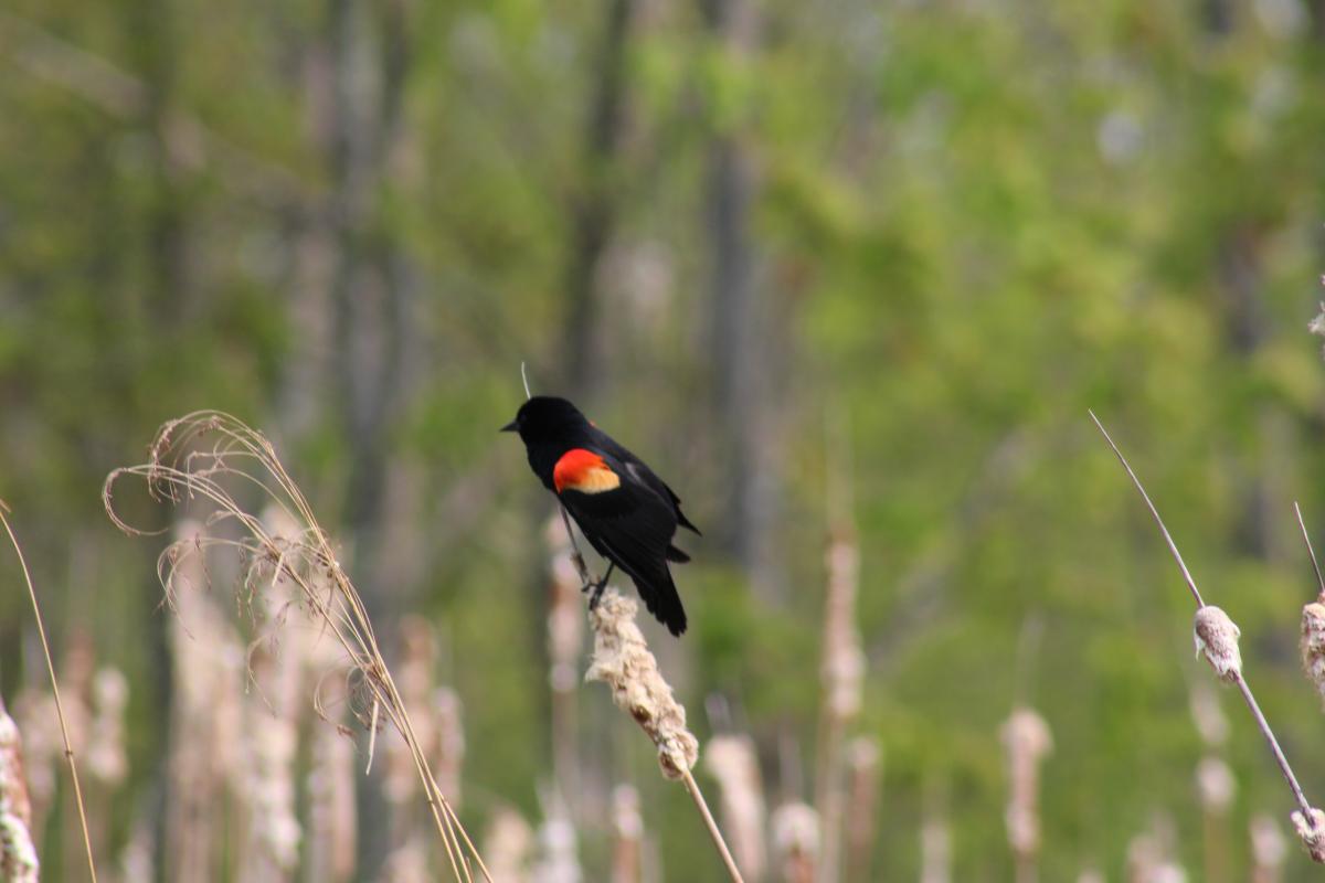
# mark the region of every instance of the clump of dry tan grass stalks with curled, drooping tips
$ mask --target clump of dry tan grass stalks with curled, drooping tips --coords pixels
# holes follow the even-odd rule
[[[102,502],[106,514],[129,535],[152,535],[127,523],[115,508],[115,483],[139,478],[156,502],[182,504],[201,502],[212,507],[208,527],[231,526],[237,537],[208,536],[189,540],[209,547],[232,547],[248,561],[245,586],[258,592],[264,582],[288,579],[318,621],[344,650],[350,667],[360,683],[367,716],[372,724],[386,716],[400,732],[419,780],[423,782],[428,808],[437,833],[447,849],[452,874],[457,880],[473,880],[470,859],[484,878],[492,880],[478,850],[460,823],[454,809],[437,786],[428,755],[415,735],[405,703],[378,647],[367,610],[348,575],[337,560],[326,531],[318,524],[303,492],[281,465],[268,438],[242,421],[217,410],[200,410],[164,424],[152,440],[146,463],[117,469],[106,477]],[[258,504],[245,507],[232,487],[258,491]],[[295,537],[272,536],[260,512],[274,506],[288,515],[301,531]],[[170,572],[180,559],[180,545],[172,544],[158,560],[158,575],[171,601]]]

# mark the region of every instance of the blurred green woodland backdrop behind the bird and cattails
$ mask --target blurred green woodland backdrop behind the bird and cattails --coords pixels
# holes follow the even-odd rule
[[[582,879],[612,879],[628,784],[636,879],[723,879],[606,690],[550,688],[553,508],[496,432],[523,361],[705,530],[678,569],[690,631],[647,630],[701,740],[751,740],[765,814],[819,804],[824,552],[859,551],[836,774],[852,818],[872,809],[833,879],[1014,879],[1015,706],[1052,732],[1043,879],[1161,879],[1147,853],[1248,879],[1249,825],[1291,835],[1292,801],[1192,659],[1190,597],[1086,409],[1240,624],[1325,800],[1292,512],[1325,537],[1322,83],[1325,7],[1301,0],[5,3],[0,496],[70,700],[118,695],[98,669],[127,688],[122,764],[90,782],[103,875],[258,879],[252,797],[215,770],[215,851],[172,864],[197,665],[162,606],[166,540],[101,502],[160,422],[219,408],[276,441],[388,657],[431,647],[413,659],[462,708],[476,838],[502,819],[550,874],[571,831]],[[0,568],[0,692],[32,719],[45,673]],[[298,847],[262,879],[415,879],[380,769],[356,777],[352,870],[318,864],[302,725]],[[53,776],[49,741],[29,767]],[[1198,788],[1211,757],[1230,793]],[[48,794],[46,879],[82,879],[68,786]],[[755,818],[751,879],[783,879]],[[1310,879],[1283,849],[1257,879]]]

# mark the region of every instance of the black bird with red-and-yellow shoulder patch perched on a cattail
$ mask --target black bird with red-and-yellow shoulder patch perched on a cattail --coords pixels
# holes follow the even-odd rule
[[[677,524],[700,530],[681,514],[681,500],[639,457],[616,443],[564,398],[534,396],[502,426],[518,432],[529,465],[556,494],[599,555],[607,573],[592,586],[598,604],[612,568],[635,580],[649,613],[672,634],[685,631],[685,610],[668,561],[690,556],[672,544]]]

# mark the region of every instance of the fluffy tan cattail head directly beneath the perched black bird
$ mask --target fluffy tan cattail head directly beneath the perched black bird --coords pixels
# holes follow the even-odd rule
[[[657,745],[662,774],[682,778],[700,759],[700,740],[685,728],[685,708],[672,696],[672,687],[635,625],[637,609],[619,592],[603,594],[590,614],[594,655],[584,680],[611,687],[612,702],[628,711]]]

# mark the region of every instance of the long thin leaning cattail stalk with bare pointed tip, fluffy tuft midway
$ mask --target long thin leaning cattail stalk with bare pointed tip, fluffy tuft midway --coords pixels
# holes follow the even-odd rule
[[[1247,710],[1251,712],[1252,720],[1255,720],[1256,727],[1265,737],[1265,744],[1269,747],[1271,755],[1273,755],[1275,763],[1279,765],[1279,770],[1283,773],[1284,781],[1288,782],[1288,789],[1292,792],[1293,800],[1297,804],[1297,810],[1295,810],[1291,815],[1293,826],[1297,830],[1302,845],[1306,846],[1306,851],[1310,854],[1312,860],[1325,864],[1325,813],[1321,813],[1318,809],[1313,809],[1306,801],[1306,796],[1302,793],[1302,786],[1297,784],[1297,776],[1293,774],[1293,768],[1288,764],[1288,757],[1284,756],[1284,751],[1280,748],[1279,740],[1275,737],[1275,732],[1269,728],[1269,721],[1265,720],[1265,715],[1261,712],[1260,704],[1256,702],[1256,696],[1252,695],[1251,687],[1243,676],[1242,653],[1238,649],[1238,638],[1242,634],[1240,630],[1234,621],[1228,618],[1228,614],[1219,608],[1208,606],[1200,597],[1196,581],[1187,569],[1186,561],[1182,560],[1182,553],[1178,552],[1178,545],[1169,534],[1169,528],[1165,527],[1163,519],[1159,518],[1159,510],[1157,510],[1154,503],[1150,502],[1150,495],[1146,494],[1146,488],[1141,486],[1141,479],[1137,478],[1134,471],[1132,471],[1132,466],[1128,465],[1128,461],[1122,455],[1118,446],[1113,443],[1113,438],[1109,436],[1108,430],[1105,430],[1100,418],[1094,416],[1094,412],[1090,412],[1090,420],[1094,421],[1094,425],[1100,429],[1100,433],[1109,443],[1109,447],[1112,447],[1113,453],[1117,455],[1118,462],[1122,463],[1122,469],[1126,470],[1128,477],[1132,478],[1132,483],[1136,486],[1137,492],[1141,494],[1141,499],[1145,500],[1146,507],[1150,510],[1150,515],[1154,518],[1155,524],[1159,527],[1159,532],[1163,535],[1165,543],[1169,545],[1169,551],[1173,553],[1174,561],[1178,564],[1178,569],[1182,572],[1187,589],[1196,601],[1196,616],[1192,629],[1195,633],[1196,654],[1206,657],[1206,661],[1222,680],[1227,680],[1238,687],[1243,702],[1247,703]]]

